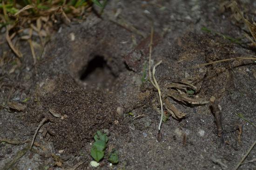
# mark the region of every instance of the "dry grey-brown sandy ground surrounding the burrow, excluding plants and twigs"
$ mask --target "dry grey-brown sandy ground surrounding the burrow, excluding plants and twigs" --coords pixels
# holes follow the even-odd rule
[[[239,5],[256,16],[255,1]],[[110,166],[104,158],[95,169],[234,169],[256,140],[256,128],[236,115],[256,123],[256,63],[232,60],[195,66],[255,56],[256,50],[246,38],[238,44],[202,31],[207,27],[233,38],[243,36],[243,24],[236,23],[230,11],[220,12],[219,6],[212,0],[110,0],[101,18],[90,13],[84,21],[61,25],[43,54],[37,54],[36,64],[26,42],[16,44],[23,53],[18,59],[1,35],[0,169],[69,169],[80,162],[78,170],[93,169],[90,149],[97,130],[108,133],[108,148],[118,150],[119,163]],[[160,134],[158,94],[148,81],[151,20],[151,62],[162,60],[155,73],[162,97],[186,113],[181,120],[170,117],[163,122]],[[210,104],[191,106],[167,97],[168,85],[184,79],[195,81],[196,96],[205,101],[216,97],[221,138]],[[26,108],[13,110],[12,103]],[[116,113],[117,107],[123,108],[122,114]],[[49,121],[29,150],[44,118]],[[256,148],[245,162],[252,159]],[[255,161],[239,168],[255,169]]]

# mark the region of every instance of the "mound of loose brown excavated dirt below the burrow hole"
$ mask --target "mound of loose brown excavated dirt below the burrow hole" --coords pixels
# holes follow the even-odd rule
[[[57,150],[77,154],[97,130],[111,126],[118,130],[117,127],[122,126],[124,121],[120,121],[115,112],[116,101],[100,90],[85,90],[70,76],[61,76],[55,82],[58,83],[56,89],[34,101],[26,116],[30,122],[40,122],[44,117],[53,121],[47,124],[47,130]],[[61,114],[62,119],[54,117],[49,109]],[[125,129],[122,127],[122,133]]]

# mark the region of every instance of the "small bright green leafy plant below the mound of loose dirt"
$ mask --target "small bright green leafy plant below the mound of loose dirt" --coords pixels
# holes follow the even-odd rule
[[[100,162],[100,160],[104,157],[104,151],[106,150],[108,143],[108,136],[107,134],[102,134],[101,131],[97,131],[94,135],[94,140],[95,142],[91,149],[91,156],[96,162]],[[118,163],[118,152],[115,149],[112,149],[112,151],[108,154],[108,161],[112,164]]]

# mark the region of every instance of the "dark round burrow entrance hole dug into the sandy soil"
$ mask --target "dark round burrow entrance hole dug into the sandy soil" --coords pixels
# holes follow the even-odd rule
[[[81,71],[80,81],[87,88],[109,89],[117,76],[103,56],[96,55],[91,59],[86,68]]]

